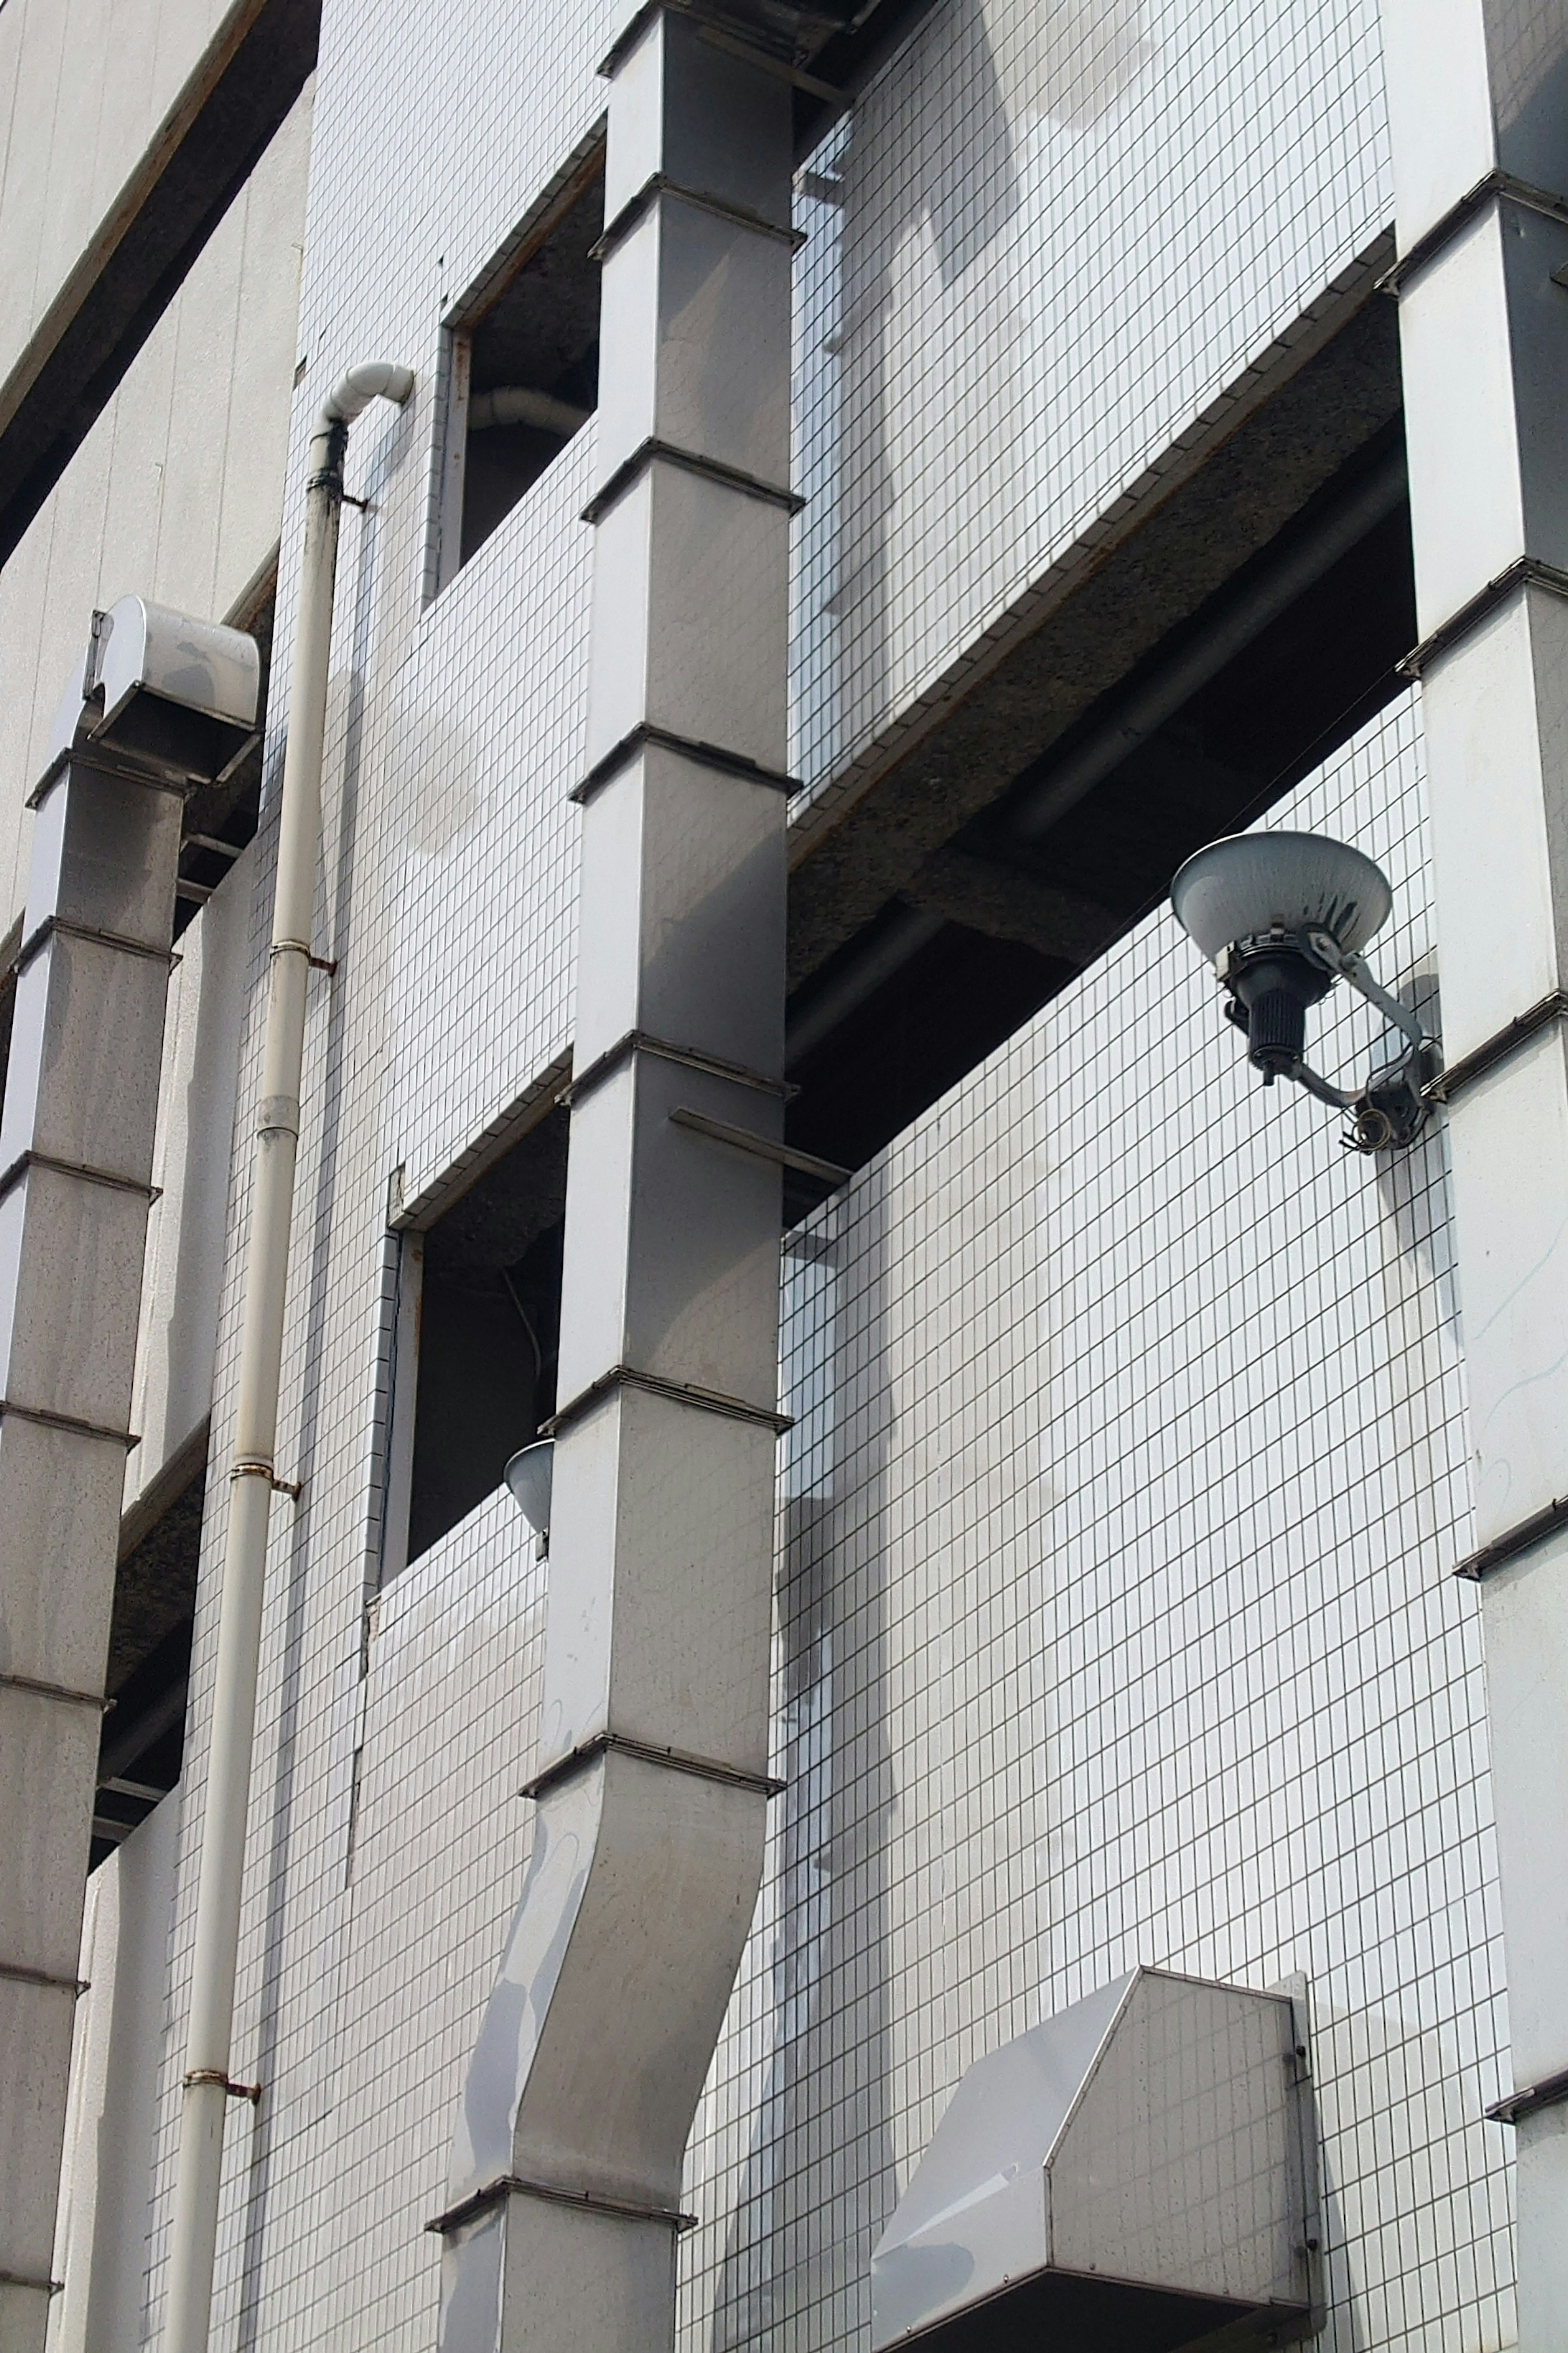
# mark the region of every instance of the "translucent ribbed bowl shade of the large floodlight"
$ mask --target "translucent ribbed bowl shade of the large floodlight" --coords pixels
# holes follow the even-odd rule
[[[1258,932],[1333,932],[1352,955],[1382,929],[1394,894],[1380,866],[1321,833],[1232,833],[1171,885],[1175,920],[1204,955]]]

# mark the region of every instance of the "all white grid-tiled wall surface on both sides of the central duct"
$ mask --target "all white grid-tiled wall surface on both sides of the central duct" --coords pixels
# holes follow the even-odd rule
[[[418,388],[402,416],[369,412],[350,454],[369,508],[343,527],[317,906],[339,974],[310,1009],[280,1466],[303,1497],[275,1518],[235,2045],[235,2073],[268,2092],[230,2120],[221,2353],[430,2353],[440,2249],[418,2224],[522,1868],[508,1793],[538,1609],[510,1506],[491,1499],[409,1569],[369,1642],[362,1600],[388,1179],[428,1186],[571,1019],[562,795],[590,438],[425,605],[440,332],[590,132],[623,14],[473,0],[433,40],[414,0],[324,12],[280,675],[308,419],[360,358],[407,360]],[[882,327],[849,391],[804,379],[809,475],[832,473],[849,400],[804,579],[811,595],[832,569],[837,595],[860,579],[839,553],[863,551],[884,586],[844,602],[851,621],[820,605],[802,638],[820,664],[802,689],[813,760],[914,692],[1382,219],[1366,5],[1117,0],[1105,73],[1051,64],[1034,14],[945,0],[917,45],[929,104],[900,99],[912,68],[893,66],[856,129],[856,271]],[[1046,186],[1065,191],[1048,212]],[[1220,256],[1213,313],[1182,278],[1201,252]],[[825,249],[820,268],[837,268]],[[952,381],[924,372],[938,346]],[[943,419],[966,402],[971,539],[940,480]],[[1300,798],[1399,861],[1389,969],[1429,953],[1415,772],[1401,711]],[[263,824],[263,896],[268,859]],[[261,951],[256,925],[242,1129]],[[1133,1040],[1131,1005],[1147,1005]],[[1500,2151],[1474,2122],[1500,2066],[1479,1685],[1469,1595],[1443,1574],[1467,1504],[1441,1151],[1401,1191],[1232,1064],[1201,969],[1145,925],[792,1252],[792,1795],[693,2153],[691,2346],[860,2341],[870,2235],[964,2059],[1138,1955],[1312,1972],[1340,2346],[1502,2341],[1486,2334],[1507,2327]],[[242,1153],[235,1235],[244,1200]],[[235,1247],[219,1447],[240,1273]],[[1394,2122],[1378,2082],[1401,2089]],[[1359,2113],[1378,2115],[1368,2146]],[[1472,2249],[1472,2278],[1420,2261],[1422,2231]],[[1420,2299],[1432,2318],[1410,2318]]]

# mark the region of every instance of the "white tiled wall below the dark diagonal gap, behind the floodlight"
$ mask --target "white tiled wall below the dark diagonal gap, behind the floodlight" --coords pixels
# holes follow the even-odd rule
[[[1272,819],[1385,864],[1403,699]],[[1321,1061],[1363,1068],[1340,993]],[[788,1245],[776,1769],[682,2344],[867,2341],[964,2068],[1135,1962],[1309,1979],[1335,2353],[1512,2341],[1441,1127],[1265,1092],[1159,913]]]

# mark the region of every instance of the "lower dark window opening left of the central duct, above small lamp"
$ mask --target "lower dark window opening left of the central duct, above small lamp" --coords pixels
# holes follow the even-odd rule
[[[555,1412],[564,1217],[557,1108],[423,1238],[409,1560],[496,1492]]]

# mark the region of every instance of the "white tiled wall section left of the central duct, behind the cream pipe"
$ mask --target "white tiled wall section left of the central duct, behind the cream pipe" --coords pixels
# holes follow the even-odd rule
[[[317,953],[336,960],[336,976],[317,976],[308,1012],[280,1417],[280,1471],[301,1480],[303,1494],[299,1508],[280,1499],[273,1515],[235,2017],[235,2073],[263,2082],[266,2097],[256,2113],[244,2108],[228,2122],[214,2299],[221,2353],[336,2346],[357,2327],[378,2334],[355,2341],[428,2353],[435,2337],[440,2247],[421,2224],[433,2212],[425,2191],[440,2188],[444,2174],[461,2066],[449,2080],[440,2075],[447,2045],[428,2012],[421,2019],[430,2042],[409,2064],[409,2080],[376,2073],[395,2021],[407,2019],[400,2009],[407,1981],[430,1991],[414,1918],[386,1894],[388,1885],[402,1885],[423,1915],[428,1880],[418,1873],[428,1849],[397,1809],[400,1774],[414,1767],[414,1755],[388,1767],[390,1798],[381,1781],[362,1786],[357,1758],[362,1744],[371,1758],[383,1753],[364,1675],[376,1654],[364,1635],[364,1591],[378,1541],[374,1480],[388,1386],[386,1221],[397,1172],[404,1195],[440,1174],[529,1094],[569,1038],[576,812],[564,793],[578,760],[588,555],[588,532],[574,518],[592,461],[592,438],[581,435],[451,588],[428,602],[442,320],[592,129],[604,106],[595,64],[623,14],[618,0],[571,9],[557,0],[473,7],[430,40],[428,14],[411,0],[324,7],[277,678],[289,675],[292,659],[313,416],[341,369],[364,358],[404,360],[416,391],[402,412],[371,407],[348,456],[348,489],[367,504],[343,518],[315,927]],[[277,720],[268,786],[282,760],[282,713]],[[268,805],[256,840],[259,913],[219,1315],[219,1464],[233,1433],[273,828]],[[482,1577],[491,1558],[482,1522],[480,1513],[465,1534],[454,1532],[440,1558],[449,1560],[461,1539]],[[146,2282],[150,2346],[165,2325],[223,1527],[226,1480],[214,1478],[181,1786]],[[400,1609],[428,1591],[430,1574],[421,1562]],[[496,1678],[510,1675],[524,1694],[517,1647],[508,1649],[501,1621],[484,1624]],[[522,1753],[498,1718],[484,1718],[473,1678],[449,1706],[475,1708],[477,1748],[487,1746],[489,1722],[494,1769],[515,1788]],[[470,1800],[480,1809],[489,1802],[477,1781],[461,1769],[442,1777],[440,1753],[433,1772],[451,1809],[437,1842],[454,1845],[454,1868],[465,1871],[480,1913],[489,1906],[484,1915],[494,1918],[494,1946],[470,1953],[458,1934],[449,1948],[451,2017],[461,2021],[451,2049],[461,2052],[515,1901],[515,1873],[508,1859],[487,1859],[487,1828],[454,1835],[454,1817],[468,1819]],[[442,1798],[433,1795],[430,1809]],[[512,1812],[522,1809],[512,1802]],[[376,1859],[367,1913],[350,1878],[360,1828],[371,1835]],[[407,1885],[381,1861],[383,1845],[404,1835]],[[364,1918],[381,1927],[362,1929]],[[433,1948],[449,1925],[451,1918],[428,1920]],[[371,1944],[355,1944],[364,1934]],[[376,1939],[386,1941],[386,1967]],[[360,1974],[364,2000],[353,1991]],[[400,2057],[407,2052],[404,2026]],[[437,2089],[421,2092],[425,2061]],[[360,2085],[355,2101],[348,2085]],[[346,2165],[348,2148],[362,2158],[357,2172]],[[404,2148],[411,2174],[397,2198],[407,2188],[407,2205],[393,2207],[383,2186],[397,2174],[393,2151]],[[371,2280],[383,2285],[371,2292]],[[346,2282],[357,2282],[357,2304]]]

